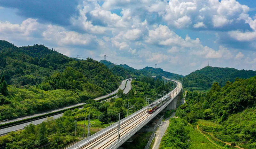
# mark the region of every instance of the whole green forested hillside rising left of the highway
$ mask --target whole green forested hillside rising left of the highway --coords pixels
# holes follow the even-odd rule
[[[0,92],[0,120],[99,97],[121,82],[93,59],[77,60],[44,45],[17,47],[3,40],[0,75],[8,84],[4,96]]]

